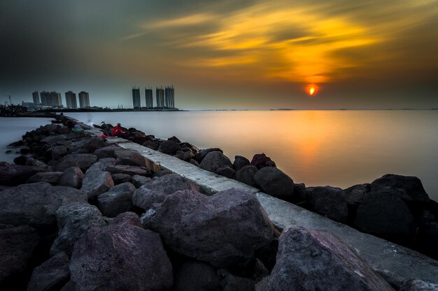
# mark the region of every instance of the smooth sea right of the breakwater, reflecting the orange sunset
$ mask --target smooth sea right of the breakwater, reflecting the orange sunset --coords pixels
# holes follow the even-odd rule
[[[264,153],[295,183],[347,188],[416,176],[438,200],[438,110],[83,112],[87,124],[134,127],[234,156]],[[14,125],[11,125],[15,128]],[[17,128],[17,130],[20,130]],[[24,132],[22,130],[22,135]]]

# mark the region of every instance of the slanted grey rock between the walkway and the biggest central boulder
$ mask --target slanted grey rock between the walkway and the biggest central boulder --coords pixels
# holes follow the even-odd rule
[[[132,196],[132,203],[146,210],[162,203],[167,195],[180,190],[199,191],[199,187],[178,174],[167,174],[154,178],[152,182],[138,188]]]

